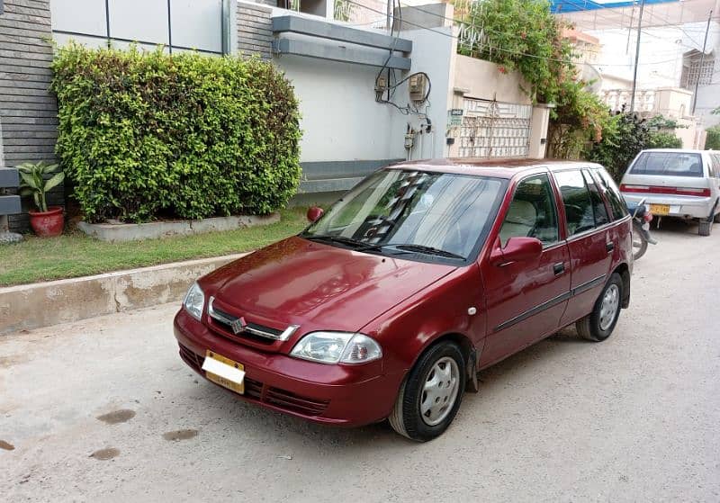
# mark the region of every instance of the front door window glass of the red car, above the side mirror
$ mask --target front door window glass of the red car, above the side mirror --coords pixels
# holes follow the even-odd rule
[[[547,175],[531,176],[518,183],[500,228],[500,244],[509,238],[538,238],[544,246],[559,240],[553,188]]]

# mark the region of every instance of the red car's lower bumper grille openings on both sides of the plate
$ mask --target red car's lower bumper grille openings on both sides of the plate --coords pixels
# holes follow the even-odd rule
[[[202,363],[205,361],[203,355],[197,355],[192,349],[181,344],[180,356],[186,364],[193,367],[197,372],[203,373]],[[277,408],[297,412],[305,416],[320,416],[328,409],[330,403],[330,400],[315,400],[292,391],[268,386],[263,382],[249,379],[247,374],[245,375],[245,394],[242,396],[252,401],[268,403]]]

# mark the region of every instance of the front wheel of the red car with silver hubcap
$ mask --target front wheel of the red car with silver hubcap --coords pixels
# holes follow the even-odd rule
[[[401,436],[418,442],[442,435],[460,408],[465,379],[459,346],[449,341],[430,346],[402,383],[388,418],[390,426]]]

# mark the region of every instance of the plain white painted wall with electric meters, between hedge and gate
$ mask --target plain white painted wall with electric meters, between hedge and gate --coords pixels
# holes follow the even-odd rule
[[[413,41],[412,69],[396,71],[396,75],[401,79],[423,71],[430,76],[431,84],[427,112],[433,131],[417,138],[413,158],[443,157],[454,39],[450,28],[436,30],[441,33],[401,33],[402,38]],[[375,101],[379,67],[293,55],[276,56],[274,62],[284,70],[301,101],[301,162],[406,158],[407,125],[417,130],[421,119]],[[401,85],[393,102],[404,106],[408,101],[407,85]],[[421,109],[425,111],[426,107]]]

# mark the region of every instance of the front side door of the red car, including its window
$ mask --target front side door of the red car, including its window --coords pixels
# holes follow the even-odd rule
[[[557,330],[570,291],[567,245],[560,236],[557,201],[546,173],[515,185],[502,224],[491,235],[494,247],[509,238],[532,237],[543,243],[539,259],[492,265],[482,261],[487,307],[487,337],[481,366],[518,352]]]

